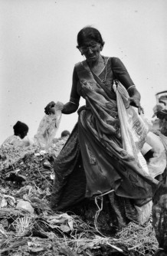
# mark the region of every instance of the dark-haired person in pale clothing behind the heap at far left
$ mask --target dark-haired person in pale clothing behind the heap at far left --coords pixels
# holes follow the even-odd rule
[[[13,126],[14,135],[9,136],[5,139],[2,146],[29,146],[28,140],[24,140],[25,136],[28,134],[28,126],[21,121],[18,121]]]

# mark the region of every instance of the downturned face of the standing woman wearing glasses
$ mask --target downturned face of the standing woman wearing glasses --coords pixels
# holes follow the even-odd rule
[[[101,45],[95,40],[85,38],[79,49],[87,61],[97,61],[100,56]]]

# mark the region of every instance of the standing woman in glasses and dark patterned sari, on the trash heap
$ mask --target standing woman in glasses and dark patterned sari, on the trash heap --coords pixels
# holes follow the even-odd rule
[[[129,94],[126,108],[136,107],[139,114],[140,94],[122,61],[101,55],[104,42],[96,28],[81,29],[77,44],[86,60],[74,67],[70,101],[58,102],[57,108],[64,114],[74,113],[80,97],[84,97],[86,106],[78,110],[78,122],[55,160],[51,207],[55,211],[69,209],[85,199],[90,202],[96,196],[103,197],[101,213],[104,211],[108,216],[110,227],[122,227],[129,220],[138,221],[135,205],[149,202],[158,184],[138,159],[123,149],[114,80],[119,80]],[[54,105],[53,101],[47,104],[45,113],[51,113]],[[138,113],[133,128],[142,149],[148,131],[139,121]]]

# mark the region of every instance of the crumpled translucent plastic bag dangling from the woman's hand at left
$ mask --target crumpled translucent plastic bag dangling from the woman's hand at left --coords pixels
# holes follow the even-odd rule
[[[41,149],[47,149],[56,136],[59,124],[61,122],[61,110],[57,110],[55,105],[54,113],[45,115],[39,124],[37,134],[34,136],[36,143]]]

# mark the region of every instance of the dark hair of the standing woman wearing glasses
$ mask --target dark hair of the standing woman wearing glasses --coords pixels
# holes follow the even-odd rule
[[[77,48],[82,46],[85,38],[93,39],[94,41],[97,41],[97,43],[100,43],[102,46],[104,45],[104,41],[102,39],[100,31],[98,31],[97,28],[92,28],[92,27],[82,28],[77,34],[77,44],[78,44]]]

